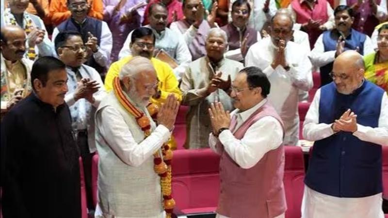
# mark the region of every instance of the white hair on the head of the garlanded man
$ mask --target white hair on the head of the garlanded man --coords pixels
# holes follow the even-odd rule
[[[124,66],[120,70],[120,74],[118,75],[118,77],[120,78],[120,80],[126,77],[135,79],[136,75],[138,75],[139,73],[151,70],[155,71],[155,68],[149,59],[142,56],[136,56],[133,57],[129,62],[124,64]]]

